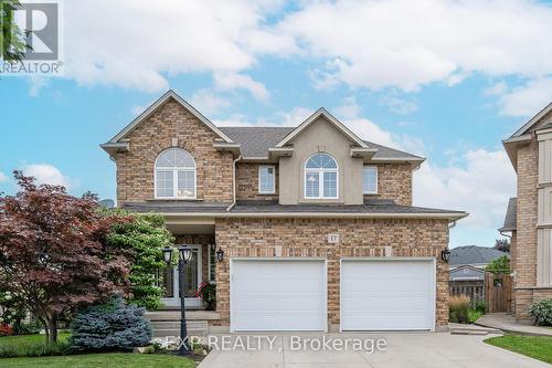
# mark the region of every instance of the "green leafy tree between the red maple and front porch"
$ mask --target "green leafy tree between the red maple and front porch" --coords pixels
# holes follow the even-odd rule
[[[128,213],[120,209],[103,209],[106,215],[130,217],[132,221],[118,223],[113,228],[107,241],[114,248],[132,249],[130,265],[129,303],[148,309],[162,306],[163,288],[158,286],[157,272],[166,266],[162,249],[173,243],[174,238],[164,227],[164,218],[159,214]]]

